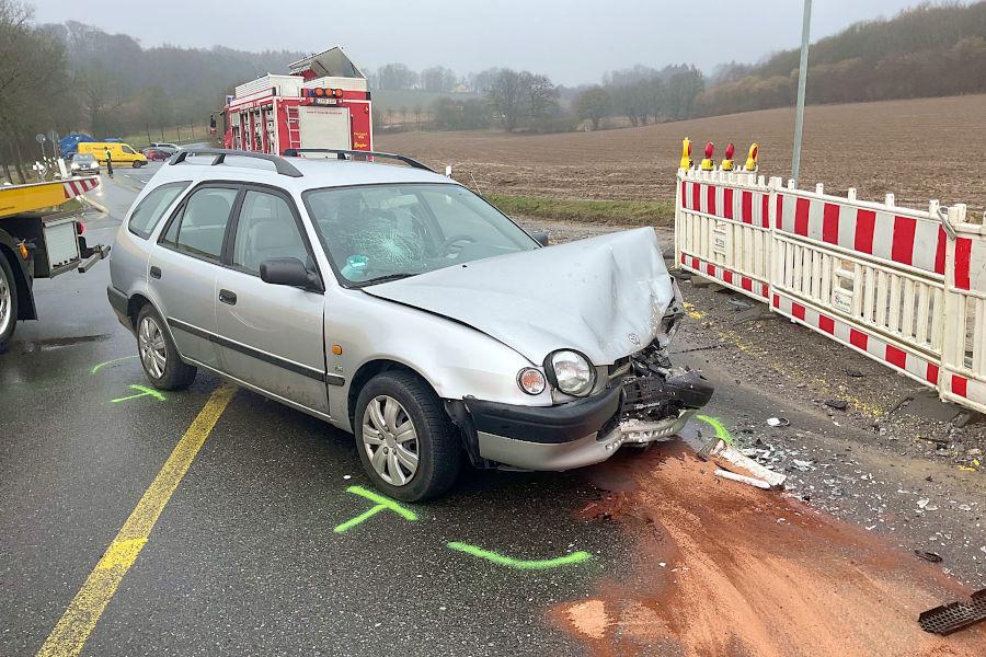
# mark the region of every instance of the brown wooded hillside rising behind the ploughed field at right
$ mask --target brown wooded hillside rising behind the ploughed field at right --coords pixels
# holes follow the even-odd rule
[[[703,116],[793,105],[800,50],[722,67],[696,99]],[[921,4],[811,46],[806,102],[847,103],[986,91],[986,2]]]

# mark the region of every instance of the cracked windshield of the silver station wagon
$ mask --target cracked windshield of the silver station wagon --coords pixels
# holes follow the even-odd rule
[[[305,204],[335,270],[359,286],[538,247],[460,185],[316,189]]]

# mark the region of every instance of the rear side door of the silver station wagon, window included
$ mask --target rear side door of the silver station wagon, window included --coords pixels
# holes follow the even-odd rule
[[[219,366],[213,342],[216,277],[240,193],[228,183],[196,187],[172,214],[148,258],[148,287],[179,351],[211,368]]]

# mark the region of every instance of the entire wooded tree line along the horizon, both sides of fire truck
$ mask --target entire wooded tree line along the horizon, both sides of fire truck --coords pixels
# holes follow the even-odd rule
[[[78,22],[37,25],[30,5],[0,0],[0,173],[13,180],[13,168],[24,180],[24,162],[38,154],[34,135],[53,128],[151,141],[165,140],[165,128],[202,127],[236,84],[285,70],[305,55],[144,48],[128,35]],[[798,49],[758,64],[724,64],[708,77],[688,64],[637,65],[573,89],[523,70],[460,76],[443,66],[414,71],[392,62],[368,71],[367,80],[372,90],[404,93],[398,106],[377,96],[375,120],[385,128],[563,131],[580,122],[594,129],[642,126],[789,106],[798,65]],[[851,25],[812,45],[809,76],[809,103],[986,92],[986,2],[921,4]]]

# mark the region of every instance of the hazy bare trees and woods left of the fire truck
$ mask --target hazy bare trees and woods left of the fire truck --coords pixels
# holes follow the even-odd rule
[[[142,48],[128,35],[74,21],[38,25],[31,5],[0,0],[0,174],[26,180],[41,155],[34,136],[53,129],[164,141],[165,129],[180,127],[191,137],[222,107],[231,85],[303,56]]]

